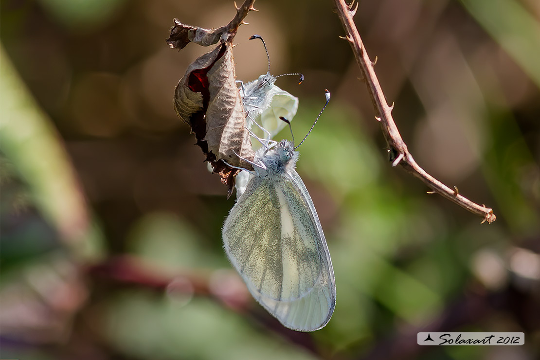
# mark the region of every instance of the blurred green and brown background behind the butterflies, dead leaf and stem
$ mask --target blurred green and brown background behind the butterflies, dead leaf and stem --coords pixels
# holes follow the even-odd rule
[[[333,1],[258,0],[238,79],[300,99],[298,172],[338,298],[313,334],[281,327],[222,251],[234,199],[173,110],[232,0],[3,0],[1,357],[534,359],[540,356],[540,3],[363,0],[356,24],[417,162],[494,209],[480,225],[391,168]],[[280,135],[289,137],[287,131]],[[418,331],[523,331],[522,347],[419,347]]]

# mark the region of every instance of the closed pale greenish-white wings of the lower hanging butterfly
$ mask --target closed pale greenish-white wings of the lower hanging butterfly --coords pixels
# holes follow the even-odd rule
[[[287,328],[330,320],[335,281],[325,236],[300,176],[249,181],[223,227],[225,251],[255,300]]]

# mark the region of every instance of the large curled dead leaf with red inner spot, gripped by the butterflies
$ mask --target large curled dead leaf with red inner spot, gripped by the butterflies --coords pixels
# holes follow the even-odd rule
[[[188,66],[174,91],[178,117],[191,126],[197,145],[228,186],[229,195],[238,170],[220,160],[252,169],[240,157],[253,160],[255,155],[235,81],[232,46],[226,42]]]

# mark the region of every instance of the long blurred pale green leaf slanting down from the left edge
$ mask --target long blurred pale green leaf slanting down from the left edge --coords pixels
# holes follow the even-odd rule
[[[38,109],[0,47],[0,148],[29,185],[44,218],[78,256],[97,256],[100,236],[55,128]]]

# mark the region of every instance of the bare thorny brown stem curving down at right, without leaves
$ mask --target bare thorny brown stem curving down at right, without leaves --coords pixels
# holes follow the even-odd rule
[[[354,6],[354,0],[350,5],[347,5],[345,0],[335,0],[335,4],[338,8],[338,16],[347,33],[345,39],[350,43],[350,47],[352,47],[354,57],[356,58],[356,63],[360,67],[362,76],[366,81],[369,96],[372,99],[373,107],[377,114],[375,118],[380,122],[384,139],[386,139],[388,144],[392,166],[397,166],[398,164],[401,165],[408,173],[416,176],[416,178],[419,178],[424,184],[429,186],[433,192],[455,202],[457,205],[469,210],[471,213],[482,216],[484,218],[482,222],[487,221],[488,223],[491,223],[495,221],[496,216],[492,209],[470,201],[465,198],[465,196],[459,194],[457,188],[449,188],[416,164],[413,155],[411,155],[407,149],[407,144],[405,144],[401,138],[400,132],[397,130],[397,126],[392,118],[392,109],[394,108],[394,105],[388,106],[386,103],[386,98],[384,98],[379,79],[377,79],[375,70],[373,69],[373,63],[369,59],[368,53],[360,38],[360,34],[354,24],[353,16],[358,8],[358,3]]]

